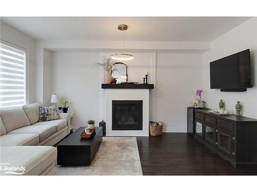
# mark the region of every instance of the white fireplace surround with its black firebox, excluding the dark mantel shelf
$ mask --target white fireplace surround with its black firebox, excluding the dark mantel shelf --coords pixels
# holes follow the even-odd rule
[[[104,89],[104,119],[106,119],[106,136],[149,136],[149,89]],[[123,103],[123,104],[122,104]],[[141,116],[136,125],[122,125],[117,121],[118,113],[128,110],[115,109],[121,106],[142,106],[138,110],[133,110],[135,115]],[[116,116],[116,118],[115,118]],[[137,121],[134,117],[134,121]],[[116,123],[115,123],[116,121]],[[133,122],[133,121],[132,121]],[[121,123],[121,122],[120,122]],[[141,126],[138,126],[141,124]]]

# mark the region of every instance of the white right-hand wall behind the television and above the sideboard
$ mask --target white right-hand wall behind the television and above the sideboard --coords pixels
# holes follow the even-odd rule
[[[253,88],[246,92],[220,92],[210,89],[210,61],[223,58],[250,48]],[[203,54],[204,99],[211,109],[218,108],[219,99],[225,100],[226,110],[235,113],[236,101],[243,104],[242,115],[257,118],[257,18],[251,18],[242,25],[211,42],[211,50]]]

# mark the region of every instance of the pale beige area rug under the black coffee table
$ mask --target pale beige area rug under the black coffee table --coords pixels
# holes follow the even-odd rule
[[[56,165],[55,175],[142,175],[136,137],[103,137],[87,166]]]

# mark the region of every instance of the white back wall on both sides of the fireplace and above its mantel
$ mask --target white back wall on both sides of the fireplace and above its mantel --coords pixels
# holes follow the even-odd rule
[[[111,54],[52,52],[51,91],[69,101],[69,112],[75,112],[75,126],[86,125],[88,119],[103,119],[103,70],[94,63]],[[166,132],[186,132],[187,106],[201,87],[201,54],[158,53],[157,60],[156,53],[132,54],[135,58],[125,62],[128,80],[142,82],[148,71],[149,83],[155,86],[150,91],[150,120],[156,116],[164,121]]]

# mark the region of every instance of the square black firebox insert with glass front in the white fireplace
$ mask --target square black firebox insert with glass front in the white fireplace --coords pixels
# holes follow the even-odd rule
[[[143,130],[143,101],[113,100],[112,130]]]

